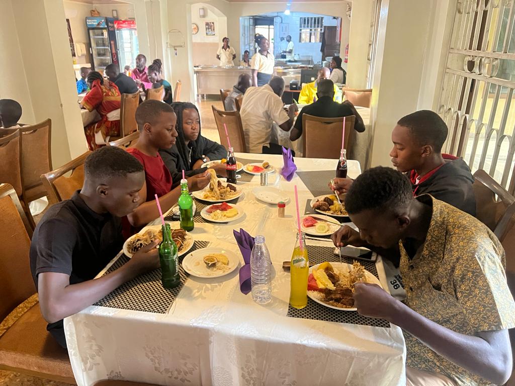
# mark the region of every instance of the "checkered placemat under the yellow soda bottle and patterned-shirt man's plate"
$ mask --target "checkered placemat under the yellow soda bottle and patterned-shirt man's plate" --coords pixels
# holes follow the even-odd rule
[[[319,247],[315,245],[307,245],[307,254],[310,258],[310,264],[320,264],[324,261],[337,261],[339,256],[333,253],[332,247]],[[352,264],[353,259],[349,257],[341,257],[341,262]],[[367,271],[377,276],[377,269],[373,261],[359,261]],[[365,326],[390,327],[390,323],[384,319],[367,318],[357,313],[357,311],[340,311],[333,308],[322,306],[317,302],[307,298],[307,306],[301,310],[288,306],[288,317],[324,320],[327,322],[362,324]]]

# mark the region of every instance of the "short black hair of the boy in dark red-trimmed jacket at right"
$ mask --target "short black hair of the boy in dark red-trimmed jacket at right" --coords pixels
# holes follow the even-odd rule
[[[443,119],[431,110],[419,110],[408,114],[399,119],[397,125],[407,127],[417,144],[431,145],[437,153],[442,151],[449,132]]]

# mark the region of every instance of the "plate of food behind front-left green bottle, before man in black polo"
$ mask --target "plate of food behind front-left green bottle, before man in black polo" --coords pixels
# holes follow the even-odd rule
[[[193,247],[193,236],[183,229],[172,229],[171,238],[174,239],[179,250],[179,256],[184,255]],[[153,240],[163,240],[161,225],[145,226],[140,233],[132,235],[124,242],[124,253],[132,258],[132,255],[138,252],[145,245],[150,244]]]

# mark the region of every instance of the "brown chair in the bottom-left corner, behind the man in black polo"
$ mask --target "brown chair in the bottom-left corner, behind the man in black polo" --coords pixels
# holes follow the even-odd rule
[[[12,186],[0,185],[0,370],[75,383],[68,352],[47,332],[40,312],[27,225]]]

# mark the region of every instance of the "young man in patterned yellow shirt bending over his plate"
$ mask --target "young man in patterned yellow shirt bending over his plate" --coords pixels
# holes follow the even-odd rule
[[[512,368],[508,328],[515,303],[505,254],[479,220],[430,195],[413,197],[399,171],[376,167],[359,176],[345,205],[359,229],[342,227],[337,246],[399,244],[404,303],[359,283],[358,312],[403,329],[407,385],[503,384]]]

